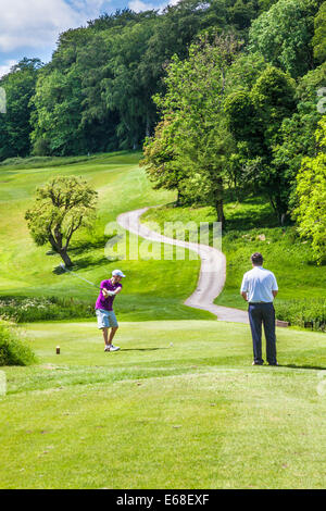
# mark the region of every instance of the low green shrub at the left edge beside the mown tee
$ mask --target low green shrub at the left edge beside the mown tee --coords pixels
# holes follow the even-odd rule
[[[30,365],[35,362],[33,350],[22,342],[12,328],[0,323],[0,366]]]

